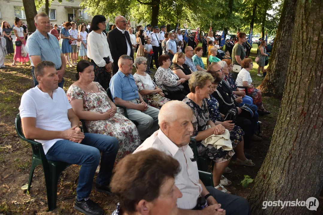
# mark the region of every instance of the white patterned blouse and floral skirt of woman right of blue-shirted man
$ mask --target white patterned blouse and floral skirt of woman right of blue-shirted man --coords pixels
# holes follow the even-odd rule
[[[141,90],[153,90],[155,89],[156,84],[151,80],[151,77],[149,74],[145,73],[146,76],[139,75],[135,73],[133,75],[133,78],[135,79],[138,91]],[[161,109],[161,106],[165,104],[166,102],[171,101],[170,99],[167,99],[165,97],[162,97],[160,101],[155,101],[152,99],[152,96],[159,95],[157,93],[151,93],[147,95],[141,95],[142,99],[147,103],[148,105]]]

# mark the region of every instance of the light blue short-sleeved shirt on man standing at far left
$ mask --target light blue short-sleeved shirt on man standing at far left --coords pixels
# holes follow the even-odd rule
[[[26,49],[29,54],[31,65],[36,66],[33,64],[31,56],[38,55],[40,56],[41,61],[51,61],[55,64],[55,68],[59,69],[62,65],[60,57],[62,50],[54,35],[47,33],[47,36],[48,39],[38,30],[28,36]]]

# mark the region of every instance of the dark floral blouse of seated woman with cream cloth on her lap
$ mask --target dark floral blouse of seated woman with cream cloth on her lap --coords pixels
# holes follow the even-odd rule
[[[207,122],[210,121],[209,109],[206,99],[202,100],[202,107],[193,102],[191,99],[185,97],[183,102],[186,103],[193,111],[193,135],[192,138],[197,136],[197,132],[201,132],[207,129]]]

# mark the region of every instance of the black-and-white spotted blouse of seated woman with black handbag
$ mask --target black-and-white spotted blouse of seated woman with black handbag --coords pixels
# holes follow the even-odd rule
[[[173,73],[170,69],[164,69],[161,66],[158,67],[157,72],[155,73],[155,82],[159,88],[167,92],[167,89],[163,86],[165,84],[169,87],[176,87],[178,84],[178,76]]]

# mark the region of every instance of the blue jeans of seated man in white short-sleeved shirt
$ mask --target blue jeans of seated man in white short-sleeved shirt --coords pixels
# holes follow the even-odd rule
[[[119,149],[119,142],[114,137],[93,133],[84,135],[81,143],[59,140],[46,154],[48,160],[81,165],[76,188],[77,200],[87,198],[91,193],[93,177],[100,162],[100,152],[102,157],[96,184],[110,184],[114,160]]]

